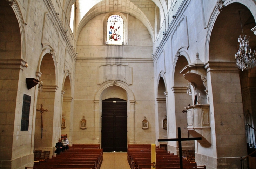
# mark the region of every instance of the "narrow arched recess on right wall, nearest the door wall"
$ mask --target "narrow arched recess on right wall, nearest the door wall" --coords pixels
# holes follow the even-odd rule
[[[156,117],[156,140],[168,138],[168,114],[167,114],[167,89],[163,72],[160,72],[157,80],[157,117]],[[167,144],[160,142],[159,144]]]

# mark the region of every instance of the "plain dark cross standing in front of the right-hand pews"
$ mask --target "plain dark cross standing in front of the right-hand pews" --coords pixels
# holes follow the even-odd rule
[[[178,138],[158,139],[157,141],[159,141],[159,142],[161,142],[161,141],[178,141],[178,151],[179,151],[179,156],[180,156],[180,169],[183,169],[181,141],[187,141],[187,140],[202,140],[202,137],[181,138],[181,128],[178,127]]]

